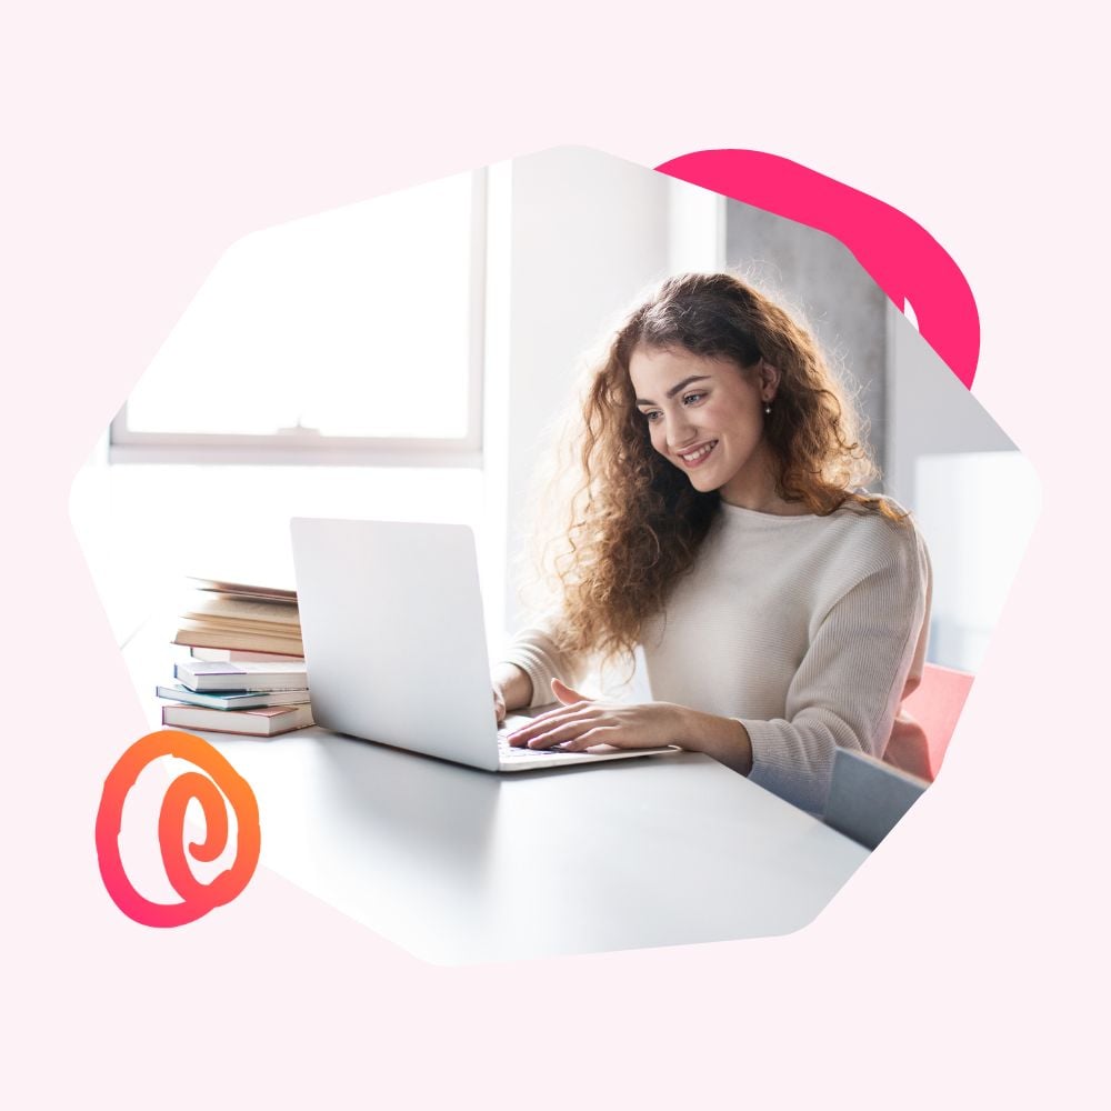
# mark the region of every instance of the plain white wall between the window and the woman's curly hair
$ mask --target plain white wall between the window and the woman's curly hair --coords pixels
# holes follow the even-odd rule
[[[669,179],[580,148],[496,167],[490,177],[487,318],[487,540],[501,568],[528,537],[534,471],[572,399],[582,356],[669,263]],[[493,565],[488,562],[488,565]],[[518,591],[491,628],[519,627]]]

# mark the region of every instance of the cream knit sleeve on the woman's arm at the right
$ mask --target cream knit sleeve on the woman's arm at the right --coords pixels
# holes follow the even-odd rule
[[[921,677],[930,562],[918,530],[903,530],[820,617],[784,718],[738,719],[752,741],[753,782],[813,813],[825,805],[838,747],[881,757]]]

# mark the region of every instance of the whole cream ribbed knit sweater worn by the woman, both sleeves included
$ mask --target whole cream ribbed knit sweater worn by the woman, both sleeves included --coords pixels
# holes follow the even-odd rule
[[[654,699],[740,720],[754,782],[805,810],[825,803],[838,745],[882,755],[922,674],[931,572],[911,519],[843,507],[775,517],[725,503],[691,572],[649,619]],[[532,680],[580,681],[582,660],[550,630],[524,630],[506,659]]]

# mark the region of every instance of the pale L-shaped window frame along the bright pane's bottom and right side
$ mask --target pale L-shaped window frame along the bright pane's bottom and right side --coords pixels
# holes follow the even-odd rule
[[[486,363],[486,169],[472,170],[470,343],[467,432],[436,439],[320,436],[307,431],[232,436],[217,432],[137,432],[128,428],[127,401],[108,433],[110,463],[188,463],[332,467],[481,467],[482,382]]]

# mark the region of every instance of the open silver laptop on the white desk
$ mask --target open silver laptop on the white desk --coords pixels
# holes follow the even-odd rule
[[[474,537],[461,524],[290,522],[317,724],[487,771],[674,749],[511,748],[494,722]]]

